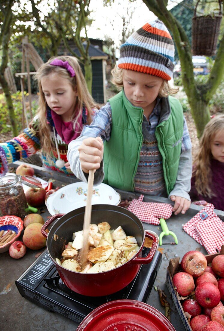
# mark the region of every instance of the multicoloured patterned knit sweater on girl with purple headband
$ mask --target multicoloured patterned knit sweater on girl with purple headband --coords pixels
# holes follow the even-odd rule
[[[55,162],[58,160],[58,153],[55,144],[53,127],[54,122],[51,117],[51,110],[46,111],[47,122],[50,127],[50,135],[52,139],[52,150],[50,153],[45,153],[42,151],[42,162],[45,168],[63,172],[67,175],[73,175],[71,170],[63,168],[58,168]],[[83,125],[87,122],[87,110],[83,107],[82,112],[82,123]],[[67,162],[67,144],[62,141],[60,135],[56,133],[56,139],[58,143],[58,149],[60,152],[60,157],[62,160]],[[8,164],[18,161],[23,158],[27,158],[41,149],[40,146],[40,132],[39,132],[39,121],[36,116],[32,124],[23,130],[18,137],[13,138],[5,143],[0,143],[0,176],[3,176],[8,171]]]

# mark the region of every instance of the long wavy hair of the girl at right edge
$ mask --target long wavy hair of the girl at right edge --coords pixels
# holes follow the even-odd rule
[[[216,115],[206,124],[199,143],[199,153],[194,160],[195,188],[199,194],[209,198],[214,196],[211,190],[211,142],[220,131],[224,132],[223,114]]]

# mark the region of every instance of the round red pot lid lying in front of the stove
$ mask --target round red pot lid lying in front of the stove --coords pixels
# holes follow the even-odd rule
[[[157,309],[137,300],[108,302],[87,315],[76,331],[175,331]]]

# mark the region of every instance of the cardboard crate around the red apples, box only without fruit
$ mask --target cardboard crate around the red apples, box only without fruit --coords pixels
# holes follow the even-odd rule
[[[221,248],[221,252],[220,254],[224,254],[224,245]],[[205,258],[207,260],[207,263],[211,263],[211,261],[213,260],[213,258],[215,256],[219,255],[219,253],[217,254],[210,254],[210,255],[205,255]],[[174,259],[170,259],[169,261],[169,266],[167,267],[167,272],[166,272],[166,286],[169,290],[169,293],[171,294],[171,297],[173,299],[174,305],[177,308],[177,311],[180,315],[180,318],[184,324],[185,330],[186,331],[192,331],[192,328],[190,327],[190,324],[188,323],[188,319],[184,313],[184,310],[181,306],[180,300],[177,297],[177,292],[174,289],[175,286],[173,284],[173,280],[172,277],[173,275],[177,272],[182,270],[181,269],[181,263],[179,263],[179,258],[174,258]]]

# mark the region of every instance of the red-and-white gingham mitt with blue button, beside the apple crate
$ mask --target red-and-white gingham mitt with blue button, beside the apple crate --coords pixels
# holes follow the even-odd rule
[[[213,210],[214,206],[207,204],[183,225],[184,231],[201,244],[208,254],[220,252],[224,244],[224,222]]]

